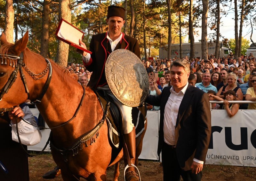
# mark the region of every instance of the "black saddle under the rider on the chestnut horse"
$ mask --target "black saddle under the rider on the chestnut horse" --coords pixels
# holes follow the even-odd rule
[[[105,90],[94,90],[94,92],[97,95],[103,110],[105,109],[108,102],[110,102],[109,112],[106,116],[106,122],[108,124],[108,135],[112,144],[118,148],[119,137],[123,127],[122,112],[113,98],[111,98],[111,96]]]

